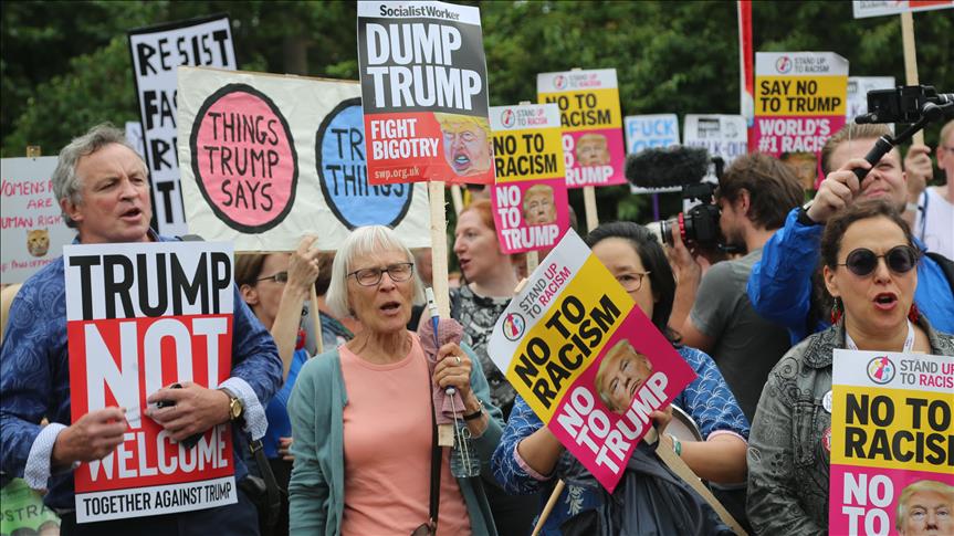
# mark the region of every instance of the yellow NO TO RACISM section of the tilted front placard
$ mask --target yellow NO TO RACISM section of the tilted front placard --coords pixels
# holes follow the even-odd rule
[[[559,288],[559,277],[541,281],[532,292],[546,296]],[[563,281],[563,280],[559,280]],[[545,297],[553,306],[524,335],[506,378],[544,422],[576,378],[600,355],[602,347],[629,315],[632,298],[590,254],[563,292]]]

